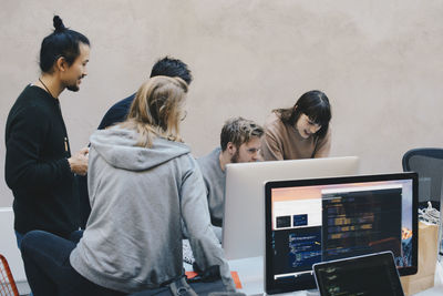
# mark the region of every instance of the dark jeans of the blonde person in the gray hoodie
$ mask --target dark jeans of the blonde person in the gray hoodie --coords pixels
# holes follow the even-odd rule
[[[69,257],[75,246],[72,241],[42,231],[24,235],[21,254],[34,296],[126,295],[99,286],[72,268]]]

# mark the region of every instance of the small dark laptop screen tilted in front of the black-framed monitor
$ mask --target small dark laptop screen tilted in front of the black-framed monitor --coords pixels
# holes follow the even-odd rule
[[[403,296],[391,252],[318,263],[313,265],[321,296]]]

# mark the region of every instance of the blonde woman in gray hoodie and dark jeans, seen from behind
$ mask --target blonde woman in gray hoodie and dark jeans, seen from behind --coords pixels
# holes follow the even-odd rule
[[[186,228],[197,265],[229,267],[210,226],[202,174],[179,136],[187,84],[155,76],[138,90],[125,122],[91,136],[91,216],[78,245],[45,232],[22,242],[39,295],[125,295],[183,274]]]

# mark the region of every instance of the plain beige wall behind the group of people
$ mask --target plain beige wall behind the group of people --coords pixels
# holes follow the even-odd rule
[[[193,70],[183,126],[196,156],[218,144],[224,121],[262,123],[274,108],[320,89],[333,108],[332,156],[358,155],[362,171],[401,170],[402,154],[442,146],[443,1],[32,1],[0,0],[0,206],[4,123],[39,75],[40,42],[60,14],[92,42],[89,78],[61,104],[73,150],[110,105],[165,54]]]

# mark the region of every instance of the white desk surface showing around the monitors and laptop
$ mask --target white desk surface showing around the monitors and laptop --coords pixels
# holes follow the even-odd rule
[[[239,292],[246,295],[264,295],[264,258],[251,257],[244,259],[229,261],[230,271],[237,272],[243,288]],[[279,295],[311,296],[319,295],[318,292],[298,290]],[[414,296],[442,296],[443,295],[443,264],[437,263],[435,268],[435,286],[423,290]]]

